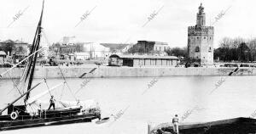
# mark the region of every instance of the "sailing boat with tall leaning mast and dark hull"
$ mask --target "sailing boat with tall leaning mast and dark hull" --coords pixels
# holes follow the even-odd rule
[[[25,70],[23,71],[23,74],[20,77],[20,89],[18,89],[17,87],[20,93],[20,97],[9,103],[5,108],[0,109],[0,131],[34,126],[51,126],[78,122],[88,122],[96,118],[98,118],[99,120],[101,119],[101,110],[97,106],[97,104],[94,106],[90,105],[90,108],[86,108],[86,106],[88,105],[80,103],[79,100],[77,100],[76,103],[60,101],[59,103],[61,103],[62,108],[42,109],[41,103],[38,103],[38,98],[41,98],[48,92],[50,94],[50,91],[54,90],[56,87],[61,86],[62,84],[67,84],[66,79],[64,79],[65,82],[62,82],[61,84],[48,89],[48,91],[42,92],[38,96],[31,97],[32,90],[38,87],[38,85],[40,85],[41,83],[46,82],[46,80],[44,79],[43,81],[40,81],[36,85],[32,86],[38,52],[42,50],[42,48],[39,49],[39,44],[42,32],[41,25],[43,13],[44,2],[40,20],[38,22],[37,31],[32,42],[31,52],[26,59],[22,60],[26,60],[27,64]],[[13,68],[9,70],[12,70]],[[4,75],[5,73],[3,73],[2,75]],[[0,77],[2,77],[2,75],[0,75]],[[20,100],[22,104],[16,104]],[[5,110],[7,110],[7,114],[3,114]]]

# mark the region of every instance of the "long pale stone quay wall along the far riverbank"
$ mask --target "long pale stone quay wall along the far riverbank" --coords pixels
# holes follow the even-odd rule
[[[0,68],[0,74],[9,68]],[[60,70],[61,69],[61,70]],[[24,68],[15,68],[1,79],[20,78]],[[158,77],[158,76],[222,76],[229,75],[235,67],[112,67],[103,65],[37,66],[35,78],[105,78],[105,77]],[[61,73],[62,72],[62,73]],[[256,68],[239,67],[232,75],[256,75]]]

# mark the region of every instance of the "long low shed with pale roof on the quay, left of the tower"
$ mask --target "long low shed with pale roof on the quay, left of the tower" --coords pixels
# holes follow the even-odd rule
[[[108,60],[110,66],[176,66],[177,64],[176,56],[113,54]]]

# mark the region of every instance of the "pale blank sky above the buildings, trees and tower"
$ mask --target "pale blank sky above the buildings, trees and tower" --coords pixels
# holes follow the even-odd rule
[[[0,40],[18,39],[32,43],[42,2],[0,0]],[[75,36],[77,42],[136,43],[148,40],[167,42],[170,47],[186,47],[188,26],[195,25],[201,3],[207,15],[207,25],[230,8],[213,25],[214,47],[218,47],[225,36],[256,36],[255,0],[45,0],[42,42],[60,42],[63,36]],[[15,14],[22,11],[23,14],[14,21]],[[88,12],[90,14],[86,16]],[[156,12],[158,14],[154,14]],[[86,17],[81,21],[83,14]],[[150,15],[153,17],[148,21]]]

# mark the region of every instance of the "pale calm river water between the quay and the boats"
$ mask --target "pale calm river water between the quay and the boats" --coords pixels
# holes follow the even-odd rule
[[[41,80],[35,80],[34,83]],[[62,79],[49,79],[54,87]],[[77,92],[85,79],[67,79],[71,91]],[[79,100],[95,99],[100,103],[102,117],[118,114],[118,120],[96,125],[95,122],[63,126],[45,126],[3,133],[147,133],[148,122],[154,124],[170,122],[174,114],[183,116],[187,110],[197,106],[183,122],[224,120],[248,117],[256,109],[256,76],[173,76],[143,78],[91,78],[75,95]],[[212,94],[209,94],[215,87]],[[0,81],[0,106],[17,97],[10,80]],[[47,90],[45,84],[36,88],[32,95]],[[67,87],[52,92],[55,98],[74,100]],[[49,96],[44,98],[49,100]]]

